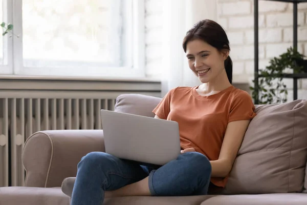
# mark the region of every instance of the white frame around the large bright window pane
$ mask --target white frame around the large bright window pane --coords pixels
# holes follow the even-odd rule
[[[136,78],[145,77],[145,25],[144,15],[145,6],[144,0],[130,0],[133,1],[133,23],[126,27],[131,32],[125,40],[130,39],[129,45],[124,48],[124,53],[131,53],[131,60],[128,59],[128,67],[106,67],[106,66],[93,66],[93,67],[49,67],[49,68],[35,68],[25,67],[23,65],[23,29],[22,29],[22,5],[23,0],[3,0],[11,4],[12,20],[14,25],[13,32],[17,36],[12,36],[12,62],[8,70],[8,74],[19,76],[62,76],[62,77],[125,77]],[[127,0],[124,0],[127,1]],[[9,7],[8,7],[9,8]],[[9,18],[8,18],[9,19]],[[7,38],[7,36],[5,36]],[[125,45],[125,44],[124,44]],[[122,48],[123,49],[123,48]],[[125,56],[126,57],[126,56]],[[13,66],[12,66],[13,65]],[[0,72],[2,74],[2,72]]]

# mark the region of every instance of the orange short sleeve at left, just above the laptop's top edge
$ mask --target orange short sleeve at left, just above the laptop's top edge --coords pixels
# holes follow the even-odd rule
[[[168,113],[170,112],[170,101],[176,89],[177,88],[173,88],[168,91],[163,97],[163,99],[160,101],[158,106],[153,109],[152,112],[158,115],[158,117],[160,117],[161,119],[167,119]]]

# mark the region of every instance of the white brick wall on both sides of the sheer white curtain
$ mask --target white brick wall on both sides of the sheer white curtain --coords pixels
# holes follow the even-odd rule
[[[234,83],[251,83],[254,72],[253,0],[218,0],[218,20],[227,32]],[[259,0],[259,68],[292,46],[293,6]],[[298,50],[307,55],[307,3],[298,5]],[[146,73],[160,77],[162,65],[162,1],[145,1]],[[292,79],[285,79],[292,100]],[[307,79],[299,80],[298,97],[307,99]]]

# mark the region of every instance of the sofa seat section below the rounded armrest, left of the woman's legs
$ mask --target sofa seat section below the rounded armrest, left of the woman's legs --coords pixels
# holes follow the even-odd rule
[[[1,205],[70,205],[70,197],[60,187],[1,187]]]

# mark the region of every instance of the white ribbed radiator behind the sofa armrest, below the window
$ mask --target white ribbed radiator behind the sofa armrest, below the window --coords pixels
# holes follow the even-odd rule
[[[157,92],[155,85],[151,86],[151,91],[148,88],[110,91],[110,87],[107,91],[59,91],[52,90],[52,86],[43,91],[28,90],[27,86],[26,91],[16,90],[14,86],[11,90],[0,89],[0,187],[24,186],[21,152],[25,140],[32,133],[41,130],[102,129],[101,109],[113,110],[116,97],[122,93],[160,96],[160,90]],[[158,87],[160,89],[160,85]]]

